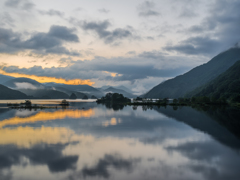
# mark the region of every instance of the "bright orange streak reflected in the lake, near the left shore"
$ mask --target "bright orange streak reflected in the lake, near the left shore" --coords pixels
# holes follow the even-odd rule
[[[55,119],[91,117],[95,114],[93,109],[88,110],[58,110],[55,112],[39,112],[29,117],[13,117],[0,122],[0,129],[7,125],[35,123],[39,121],[51,121]]]

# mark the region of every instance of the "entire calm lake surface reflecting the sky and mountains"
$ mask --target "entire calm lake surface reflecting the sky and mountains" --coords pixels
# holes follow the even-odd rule
[[[236,109],[1,106],[1,180],[240,179]]]

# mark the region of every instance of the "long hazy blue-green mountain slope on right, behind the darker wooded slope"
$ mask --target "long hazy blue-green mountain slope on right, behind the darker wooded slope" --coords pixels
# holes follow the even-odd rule
[[[240,48],[234,47],[212,58],[208,63],[167,80],[147,92],[147,98],[179,98],[225,72],[240,58]]]

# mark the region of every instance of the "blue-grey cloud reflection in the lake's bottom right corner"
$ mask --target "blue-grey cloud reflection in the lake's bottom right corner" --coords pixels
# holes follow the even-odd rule
[[[190,162],[186,167],[202,174],[206,179],[237,180],[240,177],[238,153],[215,141],[187,142],[166,149],[189,158]]]

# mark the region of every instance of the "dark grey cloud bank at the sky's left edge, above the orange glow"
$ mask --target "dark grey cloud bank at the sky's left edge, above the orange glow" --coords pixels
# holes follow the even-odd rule
[[[75,29],[64,26],[51,26],[48,33],[34,33],[29,39],[22,41],[22,35],[11,29],[0,28],[0,53],[16,53],[22,50],[32,50],[38,54],[80,55],[63,47],[64,42],[79,42],[74,34]]]

